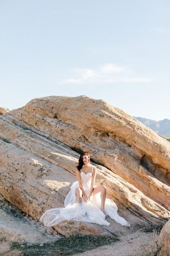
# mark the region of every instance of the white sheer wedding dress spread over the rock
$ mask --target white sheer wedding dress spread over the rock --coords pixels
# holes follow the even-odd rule
[[[89,197],[93,166],[92,171],[88,174],[85,174],[82,172],[82,170],[80,172],[82,186],[86,196]],[[100,210],[100,193],[95,195],[92,194],[91,202],[85,202],[82,198],[82,203],[77,203],[77,196],[75,194],[76,188],[79,188],[78,180],[75,181],[70,187],[71,190],[67,194],[64,201],[65,207],[52,208],[43,213],[39,220],[44,223],[44,226],[55,226],[64,220],[85,221],[105,226],[110,225],[110,223],[105,219],[104,213]],[[118,215],[118,207],[112,199],[105,199],[104,210],[111,219],[115,220],[122,226],[131,226],[123,217]]]

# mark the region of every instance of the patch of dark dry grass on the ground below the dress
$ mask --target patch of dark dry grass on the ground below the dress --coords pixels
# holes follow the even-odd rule
[[[22,256],[65,256],[92,250],[96,247],[116,241],[119,241],[119,238],[112,235],[70,235],[69,237],[64,237],[53,243],[44,243],[41,247],[39,246],[39,243],[27,244],[13,242],[11,250],[22,250]]]

